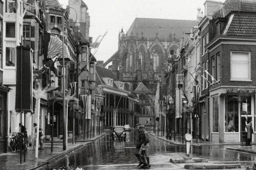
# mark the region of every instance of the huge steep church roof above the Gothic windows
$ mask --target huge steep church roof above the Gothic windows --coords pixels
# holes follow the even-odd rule
[[[155,38],[158,33],[159,38],[168,39],[172,34],[174,38],[180,39],[183,32],[191,31],[193,26],[197,26],[197,21],[194,20],[169,20],[169,19],[154,19],[154,18],[135,18],[131,27],[127,31],[128,36],[136,36],[141,38],[143,32],[144,38]]]

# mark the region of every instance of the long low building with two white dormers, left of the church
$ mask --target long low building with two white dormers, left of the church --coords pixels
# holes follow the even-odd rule
[[[96,65],[96,89],[104,96],[104,127],[135,126],[140,113],[139,99],[125,90],[124,82],[119,81],[111,70],[103,68],[102,64]]]

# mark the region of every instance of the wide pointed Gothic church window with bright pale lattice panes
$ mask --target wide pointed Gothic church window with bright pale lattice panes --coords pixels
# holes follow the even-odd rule
[[[159,45],[155,45],[153,46],[153,48],[150,51],[150,58],[153,58],[153,69],[156,72],[160,72],[161,71],[161,63],[163,61],[163,50]],[[161,63],[160,63],[161,62]]]

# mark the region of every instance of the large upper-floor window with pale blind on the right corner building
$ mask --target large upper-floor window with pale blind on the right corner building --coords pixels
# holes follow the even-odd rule
[[[231,81],[251,81],[250,52],[231,51]]]

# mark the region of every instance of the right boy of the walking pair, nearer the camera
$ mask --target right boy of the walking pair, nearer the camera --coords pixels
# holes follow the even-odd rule
[[[148,132],[146,131],[144,125],[140,126],[140,130],[142,132],[144,132],[144,136],[142,136],[143,138],[142,138],[142,140],[140,142],[141,143],[141,147],[140,147],[139,154],[141,156],[141,159],[143,160],[143,165],[141,165],[140,168],[147,169],[147,168],[151,167],[150,163],[149,163],[149,156],[148,156],[149,137],[148,137]],[[147,159],[147,163],[146,163],[145,157]]]

